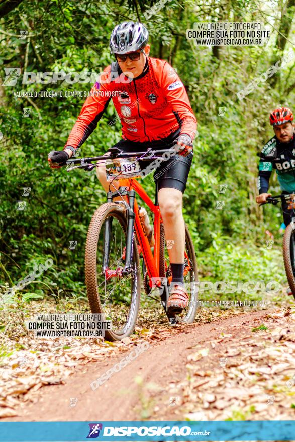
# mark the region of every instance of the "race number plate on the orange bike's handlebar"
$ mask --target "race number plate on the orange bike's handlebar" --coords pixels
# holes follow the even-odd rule
[[[139,178],[140,167],[136,158],[114,158],[106,160],[107,180]]]

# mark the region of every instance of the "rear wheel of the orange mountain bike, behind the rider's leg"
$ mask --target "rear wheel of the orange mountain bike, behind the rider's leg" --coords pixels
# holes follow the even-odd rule
[[[168,251],[165,249],[164,226],[160,226],[160,277],[171,277],[171,268],[169,263]],[[196,282],[198,278],[198,268],[196,264],[195,251],[192,239],[185,224],[185,248],[184,248],[184,284],[188,291],[189,302],[187,308],[184,308],[179,314],[167,313],[168,318],[176,318],[177,322],[191,323],[194,321],[196,309],[198,308],[198,288]]]

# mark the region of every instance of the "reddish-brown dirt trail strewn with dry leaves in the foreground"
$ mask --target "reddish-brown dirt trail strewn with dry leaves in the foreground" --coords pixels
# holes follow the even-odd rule
[[[201,388],[198,388],[200,380],[200,385],[202,385],[202,382],[203,384],[208,382],[208,377],[209,380],[214,380],[214,377],[218,378],[220,372],[225,372],[226,369],[231,370],[230,367],[235,366],[232,361],[236,360],[239,354],[239,343],[243,340],[245,348],[248,349],[248,355],[244,355],[243,361],[240,360],[236,366],[249,361],[249,354],[255,346],[258,349],[260,345],[261,348],[265,348],[265,333],[271,337],[271,330],[276,330],[278,333],[280,333],[279,330],[285,330],[283,337],[278,338],[279,345],[282,346],[284,341],[291,345],[289,341],[293,343],[294,339],[290,339],[287,335],[291,333],[294,337],[293,316],[295,315],[292,315],[290,310],[264,310],[239,314],[228,319],[221,318],[206,324],[194,323],[171,327],[158,336],[155,336],[156,334],[152,337],[147,336],[146,341],[149,342],[150,347],[121,371],[114,373],[95,391],[92,391],[90,383],[127,356],[135,348],[134,344],[125,347],[124,351],[120,350],[120,354],[117,352],[108,355],[102,362],[90,362],[78,368],[63,385],[41,388],[32,395],[31,403],[27,402],[18,407],[17,416],[3,419],[3,421],[182,420],[187,413],[196,413],[194,417],[197,418],[198,407],[195,401],[200,403],[200,410],[207,408],[209,412],[212,407],[212,410],[214,409],[214,403],[217,402],[217,398],[214,397],[216,388],[207,387],[205,391],[207,396],[200,399],[200,393],[198,393]],[[253,333],[252,327],[257,327],[261,323],[268,330]],[[252,338],[252,344],[247,344],[249,337]],[[253,340],[257,341],[257,345],[253,343]],[[276,347],[276,341],[271,338],[271,345]],[[211,346],[209,346],[210,343]],[[227,354],[229,347],[230,352]],[[294,353],[293,349],[290,350],[290,353]],[[288,351],[289,348],[284,352]],[[196,354],[196,352],[199,353]],[[227,362],[222,367],[223,363],[220,361],[224,356],[227,357]],[[279,363],[280,361],[277,361],[277,364]],[[191,374],[191,364],[193,364],[193,374]],[[294,367],[295,374],[295,366],[291,365]],[[189,370],[190,376],[187,376]],[[212,374],[214,374],[213,378],[211,378]],[[188,379],[191,383],[191,376],[194,380],[199,380],[197,388],[187,383]],[[235,376],[229,376],[228,380],[233,377]],[[243,382],[239,380],[235,384],[236,388],[241,388],[243,396],[245,384],[243,385]],[[196,393],[199,397],[195,396]],[[239,394],[236,397],[238,398]],[[72,400],[72,404],[75,403],[74,406],[70,406],[70,398],[74,398]],[[275,410],[275,407],[280,404],[273,403],[272,405],[272,410],[277,414],[278,410]],[[224,407],[219,404],[215,411],[220,412],[226,407],[227,402],[224,403]],[[265,407],[260,407],[260,411],[264,409]],[[268,415],[269,409],[268,406]],[[291,409],[290,404],[288,404],[287,411],[291,412],[291,414],[286,414],[288,418],[292,418],[295,410]],[[199,419],[201,418],[202,416],[199,415]],[[204,418],[206,419],[206,416]],[[258,418],[258,415],[255,418]]]

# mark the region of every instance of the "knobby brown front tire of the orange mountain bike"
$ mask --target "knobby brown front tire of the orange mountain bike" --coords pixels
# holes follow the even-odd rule
[[[122,226],[124,234],[126,236],[127,220],[125,216],[125,211],[118,209],[118,205],[115,203],[105,203],[101,205],[93,214],[87,233],[86,248],[85,248],[85,283],[87,288],[87,296],[89,300],[89,305],[92,313],[101,313],[104,318],[104,309],[102,307],[99,286],[97,284],[97,246],[99,242],[100,235],[104,235],[102,227],[104,226],[105,220],[109,216],[117,218]],[[122,338],[130,336],[134,326],[136,324],[136,319],[140,304],[140,262],[137,249],[137,242],[134,235],[133,238],[133,262],[136,265],[136,293],[132,296],[133,299],[130,300],[130,314],[132,314],[132,319],[128,326],[128,329],[124,333],[116,333],[113,330],[106,330],[105,339],[109,341],[119,341]],[[132,308],[133,307],[133,308]],[[130,319],[130,318],[129,318]],[[126,322],[128,324],[129,322]]]

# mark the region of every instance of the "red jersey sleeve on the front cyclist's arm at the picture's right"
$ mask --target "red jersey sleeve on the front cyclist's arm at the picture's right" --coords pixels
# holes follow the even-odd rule
[[[172,108],[180,134],[188,134],[192,140],[196,135],[196,118],[192,112],[184,85],[175,70],[166,62],[162,72],[162,91]]]

